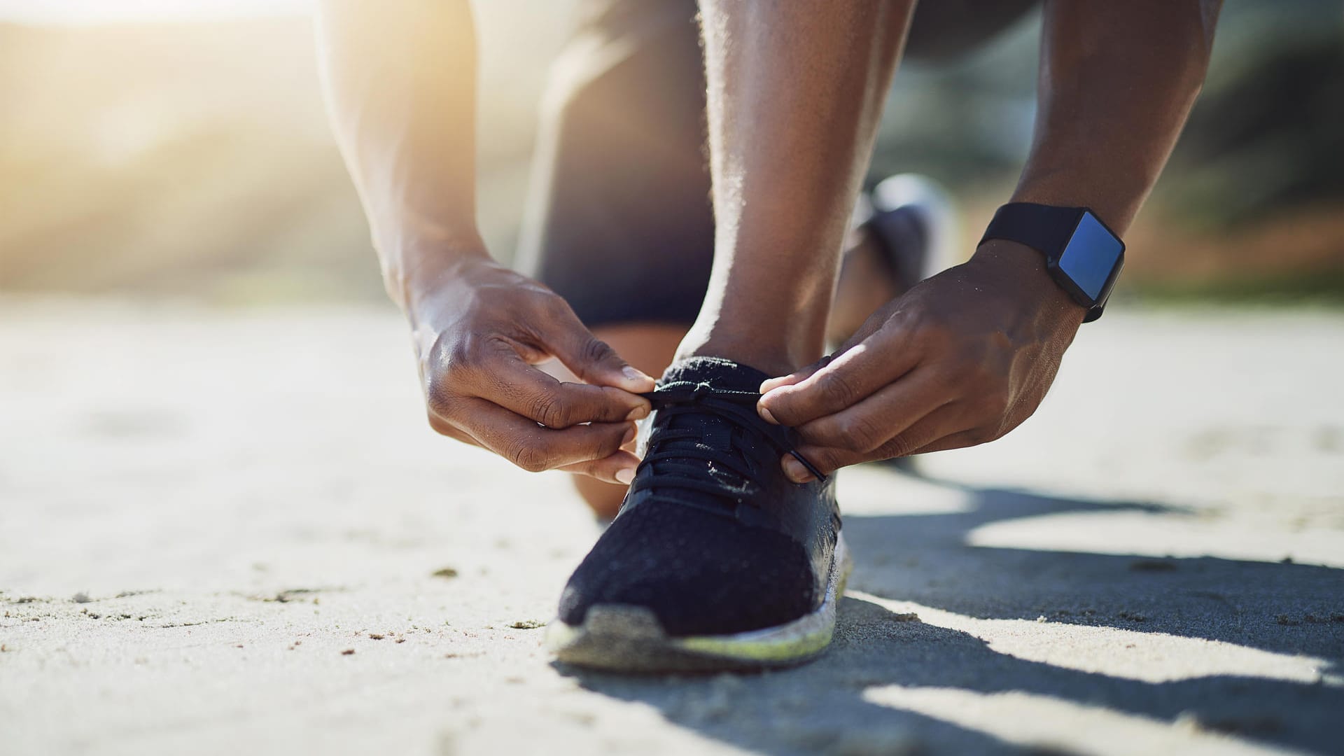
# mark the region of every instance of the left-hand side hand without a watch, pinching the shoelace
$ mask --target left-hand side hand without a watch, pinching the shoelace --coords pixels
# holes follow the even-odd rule
[[[484,257],[421,284],[407,307],[434,430],[530,469],[629,483],[636,395],[653,378],[625,363],[544,285]],[[536,367],[559,359],[585,383]],[[626,447],[626,449],[622,449]]]

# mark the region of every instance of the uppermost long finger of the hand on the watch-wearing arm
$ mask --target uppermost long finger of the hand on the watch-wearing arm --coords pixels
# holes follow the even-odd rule
[[[903,328],[879,331],[802,381],[770,390],[757,412],[769,422],[802,425],[853,406],[902,378],[918,359]]]

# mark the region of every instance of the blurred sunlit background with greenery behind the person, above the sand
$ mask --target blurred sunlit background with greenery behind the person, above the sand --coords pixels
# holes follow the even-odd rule
[[[0,292],[382,301],[306,7],[142,5],[0,1]],[[481,226],[503,258],[571,12],[477,4]],[[907,65],[872,178],[933,175],[968,237],[982,227],[1030,141],[1038,26],[953,66]],[[1130,300],[1344,303],[1337,1],[1226,4],[1204,94],[1128,241]]]

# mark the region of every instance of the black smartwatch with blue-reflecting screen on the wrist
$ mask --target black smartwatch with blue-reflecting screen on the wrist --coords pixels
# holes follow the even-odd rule
[[[1009,202],[995,213],[980,243],[1005,239],[1046,256],[1046,268],[1074,301],[1087,308],[1083,323],[1101,317],[1125,265],[1125,242],[1086,207]]]

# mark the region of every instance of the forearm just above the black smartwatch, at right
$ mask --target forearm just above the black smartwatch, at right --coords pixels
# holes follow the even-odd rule
[[[1204,81],[1218,0],[1050,0],[1031,156],[1015,202],[1133,222]]]

